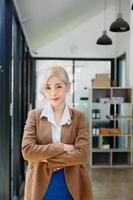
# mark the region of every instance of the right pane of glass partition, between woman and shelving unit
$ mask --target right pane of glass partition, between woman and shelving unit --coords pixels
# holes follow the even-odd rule
[[[92,80],[97,74],[111,76],[110,61],[75,61],[75,107],[82,110],[88,116],[89,92]]]

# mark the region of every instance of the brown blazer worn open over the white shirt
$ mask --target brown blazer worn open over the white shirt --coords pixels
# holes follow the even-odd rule
[[[89,145],[84,114],[70,109],[71,124],[62,126],[62,143],[54,144],[51,125],[46,117],[40,118],[41,112],[42,109],[30,111],[24,128],[22,154],[28,161],[24,200],[42,200],[52,172],[60,167],[64,167],[67,187],[73,199],[92,200],[86,167]],[[75,149],[64,152],[63,143],[74,144]]]

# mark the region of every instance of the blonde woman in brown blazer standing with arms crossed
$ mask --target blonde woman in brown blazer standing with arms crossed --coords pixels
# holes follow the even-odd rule
[[[28,161],[24,200],[92,200],[86,120],[66,104],[69,90],[64,68],[46,71],[41,91],[47,102],[29,112],[22,140]]]

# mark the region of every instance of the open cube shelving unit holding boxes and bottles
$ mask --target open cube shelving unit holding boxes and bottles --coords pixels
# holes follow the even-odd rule
[[[132,88],[95,87],[89,96],[91,167],[132,167]]]

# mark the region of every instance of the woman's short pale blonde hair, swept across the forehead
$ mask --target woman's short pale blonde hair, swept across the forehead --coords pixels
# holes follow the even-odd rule
[[[57,77],[59,80],[61,80],[66,85],[68,85],[70,83],[67,71],[63,67],[61,67],[61,66],[50,67],[45,71],[45,74],[43,76],[43,81],[41,84],[41,93],[43,95],[44,95],[44,87],[47,84],[48,79],[51,78],[52,76]]]

